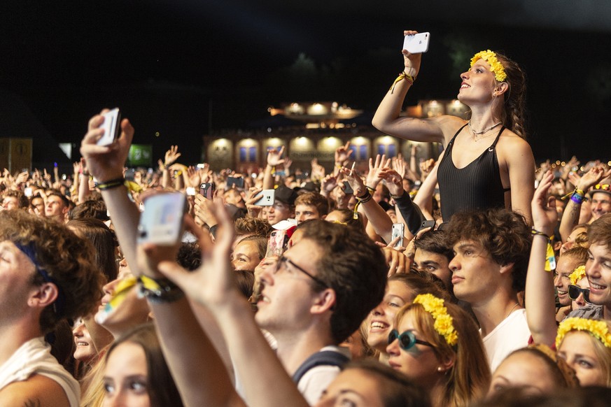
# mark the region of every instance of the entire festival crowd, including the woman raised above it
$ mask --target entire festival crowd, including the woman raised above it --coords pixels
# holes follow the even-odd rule
[[[400,117],[403,56],[374,125],[437,162],[359,173],[346,143],[304,178],[284,148],[237,173],[171,146],[126,169],[134,127],[98,145],[95,115],[73,176],[4,171],[0,404],[603,405],[611,169],[535,167],[524,74],[490,50],[461,75],[471,120]],[[186,197],[171,243],[143,238],[162,194]]]

